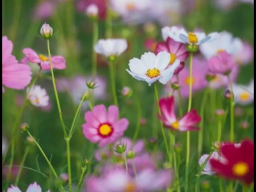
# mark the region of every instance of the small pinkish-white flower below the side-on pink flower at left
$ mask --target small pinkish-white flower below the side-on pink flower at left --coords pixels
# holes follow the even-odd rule
[[[49,105],[49,96],[44,88],[34,85],[31,89],[27,89],[28,100],[36,107],[46,107]]]

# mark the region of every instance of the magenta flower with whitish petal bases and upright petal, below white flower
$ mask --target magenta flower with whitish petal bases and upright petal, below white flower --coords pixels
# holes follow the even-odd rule
[[[173,131],[198,131],[200,128],[196,127],[201,121],[201,117],[192,109],[186,113],[180,120],[175,114],[174,97],[163,98],[159,100],[159,107],[161,115],[158,115],[164,127],[172,129]]]

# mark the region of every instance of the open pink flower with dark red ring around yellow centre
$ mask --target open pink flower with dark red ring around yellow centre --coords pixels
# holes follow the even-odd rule
[[[95,106],[84,115],[83,134],[92,143],[99,142],[99,147],[115,143],[127,129],[126,118],[118,120],[119,111],[116,106],[109,106],[108,112],[103,104]]]

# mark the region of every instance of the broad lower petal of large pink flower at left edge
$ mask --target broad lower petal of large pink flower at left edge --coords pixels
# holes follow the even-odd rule
[[[2,83],[8,88],[24,89],[31,81],[31,68],[24,64],[4,66]]]

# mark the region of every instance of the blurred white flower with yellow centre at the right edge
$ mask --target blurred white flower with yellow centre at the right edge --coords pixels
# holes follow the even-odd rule
[[[237,104],[247,105],[254,100],[254,80],[248,85],[232,84],[234,100]]]

